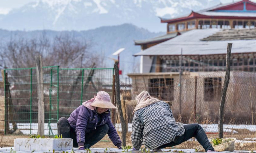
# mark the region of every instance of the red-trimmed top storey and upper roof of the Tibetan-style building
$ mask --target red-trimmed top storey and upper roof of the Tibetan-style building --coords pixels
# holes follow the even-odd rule
[[[189,15],[183,17],[161,18],[161,23],[167,23],[166,35],[137,40],[135,45],[140,45],[144,50],[192,29],[254,28],[256,27],[256,3],[242,0],[236,3],[219,4],[201,11],[191,11]]]

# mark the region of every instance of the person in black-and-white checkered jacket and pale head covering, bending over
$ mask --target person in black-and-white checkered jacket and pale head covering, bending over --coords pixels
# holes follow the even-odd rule
[[[143,143],[146,148],[159,152],[162,148],[176,146],[196,137],[205,151],[215,152],[199,124],[183,125],[176,122],[170,106],[151,97],[148,91],[142,91],[136,100],[131,135],[133,150],[139,150]]]

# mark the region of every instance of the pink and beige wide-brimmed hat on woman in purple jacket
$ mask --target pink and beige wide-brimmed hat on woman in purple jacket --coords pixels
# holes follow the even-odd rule
[[[110,96],[105,91],[99,91],[95,100],[92,102],[93,107],[117,109],[115,105],[112,104]]]

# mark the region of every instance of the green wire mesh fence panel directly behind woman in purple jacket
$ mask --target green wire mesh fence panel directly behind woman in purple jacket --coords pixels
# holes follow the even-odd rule
[[[60,69],[59,73],[59,117],[68,118],[98,91],[106,91],[112,96],[113,68]]]

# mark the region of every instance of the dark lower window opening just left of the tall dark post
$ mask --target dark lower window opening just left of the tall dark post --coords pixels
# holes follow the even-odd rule
[[[221,78],[208,77],[204,78],[204,100],[216,101],[221,95]]]

